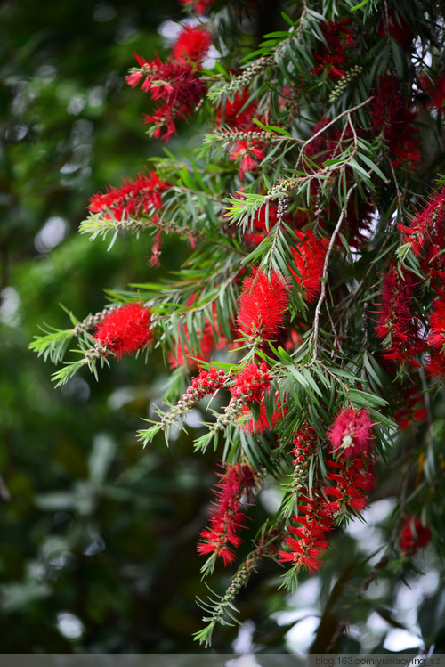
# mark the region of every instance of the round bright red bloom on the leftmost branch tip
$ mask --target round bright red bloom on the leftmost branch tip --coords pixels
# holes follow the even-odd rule
[[[121,359],[150,345],[151,313],[140,304],[125,304],[106,315],[97,327],[94,338]]]

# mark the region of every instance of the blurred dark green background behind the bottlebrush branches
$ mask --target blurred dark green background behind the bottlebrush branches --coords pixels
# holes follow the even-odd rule
[[[162,358],[126,359],[101,370],[99,383],[84,374],[54,389],[51,365],[28,351],[44,322],[69,328],[61,305],[83,319],[102,309],[104,289],[157,281],[181,264],[179,241],[166,242],[155,271],[148,236],[122,237],[108,250],[77,228],[94,192],[162,154],[145,134],[148,99],[124,77],[134,53],[166,53],[172,21],[182,18],[171,0],[0,5],[2,653],[205,650],[191,639],[203,615],[195,596],[208,594],[196,542],[216,455],[194,456],[182,433],[169,449],[162,439],[150,450],[137,443],[141,417],[165,392]],[[169,150],[187,156],[202,132],[184,126]],[[193,436],[198,417],[190,416]],[[387,538],[392,484],[396,472],[368,510],[369,524],[334,539],[320,576],[303,577],[293,595],[277,592],[279,565],[263,565],[239,599],[243,629],[217,630],[214,650],[322,652],[352,613],[344,651],[429,640],[445,652],[445,594],[432,549],[417,559],[423,576],[405,573],[411,588],[390,573],[366,600],[355,598],[369,545],[378,551]],[[277,503],[276,488],[262,493],[247,537],[255,513],[273,514]],[[215,591],[223,593],[230,574],[215,573]]]

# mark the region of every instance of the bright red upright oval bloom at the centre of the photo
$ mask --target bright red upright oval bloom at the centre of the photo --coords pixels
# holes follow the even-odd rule
[[[243,283],[239,297],[239,330],[252,338],[273,340],[281,328],[287,309],[287,285],[277,272],[268,278],[256,267]]]

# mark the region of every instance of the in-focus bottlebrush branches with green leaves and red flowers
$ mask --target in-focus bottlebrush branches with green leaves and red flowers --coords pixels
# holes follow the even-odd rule
[[[203,645],[237,622],[259,568],[281,590],[323,576],[348,525],[391,499],[386,539],[326,600],[313,650],[336,650],[363,608],[399,627],[369,585],[402,577],[430,541],[443,550],[443,12],[283,3],[255,45],[262,6],[186,6],[198,18],[172,52],[138,53],[126,81],[148,97],[151,137],[168,143],[189,121],[193,140],[93,195],[80,225],[110,246],[150,238],[151,268],[174,236],[182,265],[108,289],[109,305],[69,312],[31,348],[58,364],[57,386],[84,367],[101,379],[125,353],[146,375],[162,354],[170,381],[139,428],[144,446],[205,411],[194,450],[223,468],[198,551],[204,575],[221,561],[233,576],[199,596]],[[421,630],[425,645],[442,640],[442,627]]]

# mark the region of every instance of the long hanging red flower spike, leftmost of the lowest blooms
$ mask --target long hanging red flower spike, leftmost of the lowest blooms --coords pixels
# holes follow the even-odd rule
[[[249,496],[255,479],[248,466],[235,463],[221,475],[217,497],[216,511],[210,518],[210,527],[201,533],[202,542],[198,543],[198,553],[215,554],[223,557],[224,565],[229,565],[235,555],[230,545],[238,547],[241,539],[237,535],[240,526],[244,525],[245,515],[240,511],[244,496]]]

